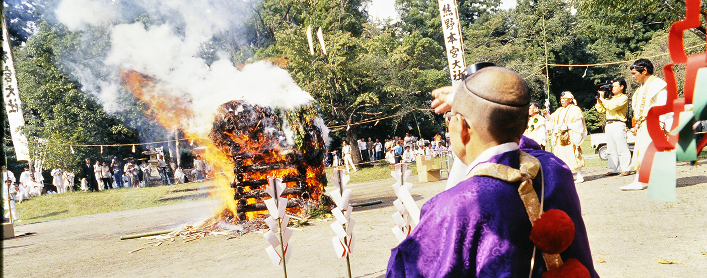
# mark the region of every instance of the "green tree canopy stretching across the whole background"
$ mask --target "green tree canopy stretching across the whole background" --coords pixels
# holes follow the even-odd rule
[[[684,14],[682,0],[519,0],[507,10],[498,8],[500,2],[457,1],[466,63],[490,61],[518,71],[530,85],[532,100],[542,106],[547,98],[551,109],[562,91],[572,91],[591,132],[600,132],[603,124],[602,115],[592,108],[595,84],[617,76],[631,83],[630,63],[546,67],[546,62],[595,64],[662,54],[667,52],[667,29]],[[117,5],[127,9],[137,3]],[[334,127],[331,148],[338,149],[342,140],[356,148],[353,143],[362,137],[382,139],[405,132],[429,138],[444,131],[442,117],[428,110],[410,111],[429,108],[429,93],[450,84],[437,3],[397,0],[398,21],[374,21],[362,0],[236,1],[229,5],[245,11],[243,21],[210,37],[194,55],[207,64],[226,53],[237,66],[264,59],[286,69],[315,98],[326,124]],[[155,111],[130,93],[119,90],[122,109],[114,110],[86,92],[100,91],[98,81],[115,77],[100,63],[110,50],[109,30],[98,26],[72,32],[54,19],[56,6],[55,0],[39,0],[33,6],[12,0],[3,10],[16,51],[27,121],[23,132],[31,140],[59,144],[33,143],[33,155],[41,154],[47,164],[76,169],[83,158],[103,159],[132,150],[71,152],[66,144],[171,139],[173,131],[160,127],[151,117]],[[130,11],[119,21],[146,26],[167,22],[183,33],[181,19],[151,16],[144,8]],[[307,28],[314,34],[321,28],[327,54],[316,35],[315,54],[310,54]],[[686,46],[704,42],[704,34],[704,28],[686,33]],[[665,56],[653,60],[657,69],[668,62]],[[83,79],[85,74],[98,76],[98,81]]]

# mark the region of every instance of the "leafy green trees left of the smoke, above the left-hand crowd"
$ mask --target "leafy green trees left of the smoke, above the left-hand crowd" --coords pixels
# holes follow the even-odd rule
[[[78,171],[84,158],[109,160],[128,147],[74,147],[60,144],[134,143],[136,134],[106,115],[98,101],[62,71],[59,57],[71,55],[80,35],[42,22],[39,32],[15,52],[26,124],[22,132],[32,142],[30,156],[44,166]],[[46,144],[45,144],[46,143]]]

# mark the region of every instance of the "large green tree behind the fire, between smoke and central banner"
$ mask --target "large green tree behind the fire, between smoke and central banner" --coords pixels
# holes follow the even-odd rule
[[[359,132],[370,134],[368,131],[376,126],[373,122],[357,122],[428,106],[428,93],[448,82],[448,74],[440,70],[444,61],[429,55],[443,53],[433,39],[420,33],[402,35],[395,28],[363,24],[366,16],[356,6],[360,2],[315,4],[286,2],[267,10],[265,7],[273,5],[263,1],[264,10],[258,14],[263,22],[270,23],[264,30],[273,31],[274,42],[259,50],[256,58],[280,61],[279,65],[317,100],[325,122],[345,126],[333,132],[344,132],[340,137],[346,137],[354,150],[358,149],[355,143]],[[317,53],[310,54],[305,37],[310,25],[315,32],[322,28],[327,55],[322,54],[318,44]],[[415,120],[423,119],[406,115],[396,117],[387,126],[395,129],[398,124],[409,125]],[[353,153],[354,161],[360,162],[358,151]]]

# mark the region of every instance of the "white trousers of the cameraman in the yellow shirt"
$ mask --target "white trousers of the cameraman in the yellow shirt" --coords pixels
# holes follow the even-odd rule
[[[629,151],[629,144],[626,143],[626,123],[609,122],[604,128],[604,131],[607,132],[609,172],[619,173],[630,171],[631,151]]]

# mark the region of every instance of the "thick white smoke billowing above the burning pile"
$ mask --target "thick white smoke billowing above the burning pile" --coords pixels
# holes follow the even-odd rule
[[[199,57],[204,42],[243,18],[238,15],[238,7],[218,0],[147,0],[136,4],[156,18],[168,17],[167,23],[150,27],[143,23],[113,25],[109,28],[111,48],[105,65],[115,71],[116,77],[120,69],[151,76],[155,80],[154,91],[188,100],[196,113],[182,122],[188,132],[208,134],[216,108],[230,100],[285,109],[312,100],[287,71],[269,62],[247,64],[238,70],[228,55],[220,55],[223,57],[210,66]],[[57,18],[70,28],[105,24],[101,18],[118,18],[108,12],[117,11],[110,6],[115,5],[101,0],[64,0],[57,9]],[[88,16],[89,13],[93,15]],[[177,25],[180,28],[175,28]],[[177,29],[181,32],[175,33]],[[100,92],[94,92],[109,111],[120,107],[119,103],[112,103],[116,101],[118,82],[116,79],[114,84],[102,84]]]

